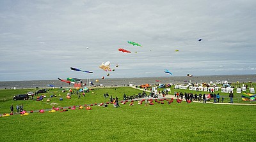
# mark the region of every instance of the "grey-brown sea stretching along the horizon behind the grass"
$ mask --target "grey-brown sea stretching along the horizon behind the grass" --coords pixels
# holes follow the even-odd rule
[[[83,79],[83,83],[89,84],[88,82],[93,82],[94,85],[103,86],[121,86],[121,85],[141,85],[145,83],[155,84],[159,83],[156,80],[161,80],[160,83],[183,83],[184,81],[187,82],[216,82],[216,80],[225,81],[227,80],[228,83],[234,82],[256,82],[256,75],[221,75],[221,76],[168,76],[168,77],[148,77],[148,78],[105,78],[104,80],[99,80],[99,82],[95,82],[95,79]],[[0,82],[0,89],[16,89],[21,88],[46,88],[47,85],[54,85],[55,87],[72,87],[73,85],[64,82],[60,82],[60,80],[33,80],[33,81],[16,81],[16,82]]]

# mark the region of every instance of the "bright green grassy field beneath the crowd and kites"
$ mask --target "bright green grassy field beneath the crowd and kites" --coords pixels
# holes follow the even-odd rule
[[[11,92],[9,92],[11,91]],[[73,106],[109,101],[103,94],[122,98],[141,90],[130,87],[93,89],[86,97],[66,99],[67,92],[50,89],[44,101],[12,101],[21,90],[0,90],[0,113],[10,112],[10,104],[24,104],[25,110]],[[28,90],[23,89],[27,92]],[[176,90],[175,90],[176,91]],[[177,90],[182,91],[182,90]],[[186,90],[188,92],[188,90]],[[174,91],[173,91],[174,92]],[[173,93],[172,92],[172,93]],[[228,95],[228,94],[227,94]],[[63,97],[63,101],[60,101]],[[7,98],[7,99],[6,99]],[[9,98],[9,99],[8,99]],[[11,98],[11,99],[10,99]],[[121,99],[120,99],[121,100]],[[236,103],[236,102],[235,102]],[[255,107],[173,101],[152,106],[120,104],[120,108],[92,106],[92,110],[30,113],[0,118],[3,141],[255,141]]]

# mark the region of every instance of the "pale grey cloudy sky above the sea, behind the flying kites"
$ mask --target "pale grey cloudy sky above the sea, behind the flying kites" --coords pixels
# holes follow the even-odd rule
[[[255,0],[3,0],[0,81],[252,75],[255,6]],[[99,68],[107,61],[115,71]]]

